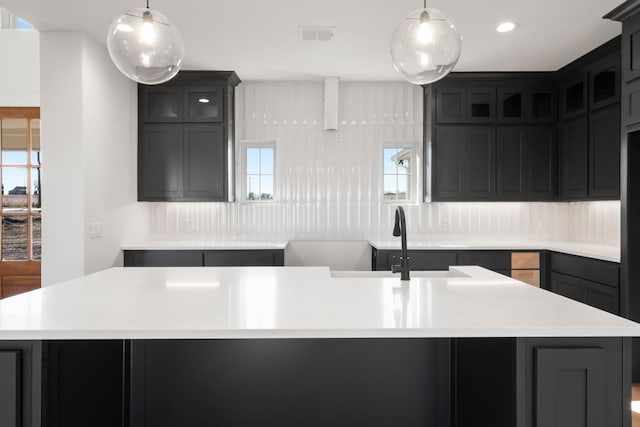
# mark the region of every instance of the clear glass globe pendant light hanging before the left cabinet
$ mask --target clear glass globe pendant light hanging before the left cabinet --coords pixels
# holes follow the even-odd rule
[[[171,80],[184,57],[178,29],[164,15],[146,8],[115,17],[107,34],[107,50],[116,67],[131,80],[155,85]]]

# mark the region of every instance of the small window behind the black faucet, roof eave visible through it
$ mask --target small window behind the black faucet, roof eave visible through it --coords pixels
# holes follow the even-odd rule
[[[415,151],[413,143],[385,144],[382,148],[385,202],[415,201]]]

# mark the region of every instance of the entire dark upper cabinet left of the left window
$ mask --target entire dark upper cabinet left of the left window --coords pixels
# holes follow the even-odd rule
[[[138,86],[138,200],[228,201],[233,72],[184,71]]]

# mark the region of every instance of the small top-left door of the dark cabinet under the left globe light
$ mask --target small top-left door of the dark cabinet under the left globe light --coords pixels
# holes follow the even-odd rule
[[[182,121],[182,88],[140,85],[141,111],[145,122]]]

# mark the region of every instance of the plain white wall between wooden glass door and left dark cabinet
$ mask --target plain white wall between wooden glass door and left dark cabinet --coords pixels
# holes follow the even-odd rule
[[[41,33],[43,285],[120,260],[147,237],[136,193],[136,86],[79,33]],[[45,195],[46,194],[46,195]],[[101,236],[89,238],[89,224]]]

